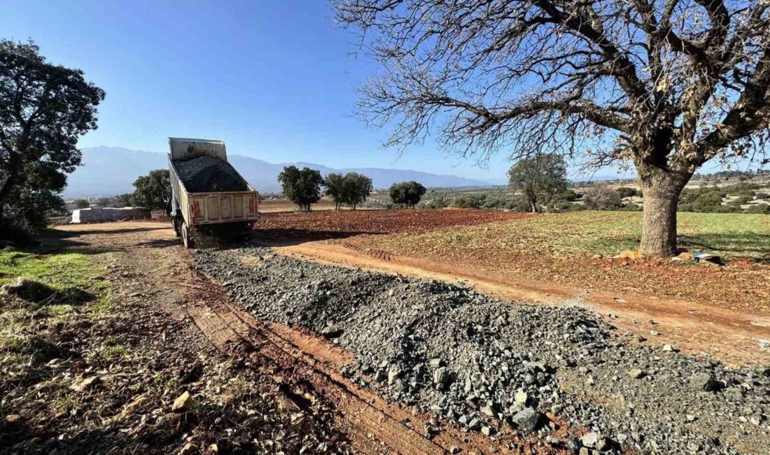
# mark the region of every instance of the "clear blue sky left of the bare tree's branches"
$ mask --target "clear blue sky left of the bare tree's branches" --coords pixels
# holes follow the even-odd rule
[[[353,117],[376,69],[324,0],[4,0],[0,36],[32,38],[50,62],[107,92],[80,146],[165,152],[169,136],[223,139],[270,162],[385,167],[504,179],[433,144],[381,149],[387,132]],[[612,175],[613,172],[603,172]]]

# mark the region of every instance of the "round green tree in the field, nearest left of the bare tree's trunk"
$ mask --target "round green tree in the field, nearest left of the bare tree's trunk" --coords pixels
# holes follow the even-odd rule
[[[521,191],[532,212],[540,212],[537,198],[544,194],[545,200],[567,189],[567,164],[555,153],[537,153],[532,158],[518,160],[508,170],[511,188]]]

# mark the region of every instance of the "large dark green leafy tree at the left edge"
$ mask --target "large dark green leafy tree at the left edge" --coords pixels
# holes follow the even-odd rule
[[[33,42],[0,40],[0,222],[32,228],[62,206],[80,136],[96,129],[105,93],[83,72],[46,62]]]

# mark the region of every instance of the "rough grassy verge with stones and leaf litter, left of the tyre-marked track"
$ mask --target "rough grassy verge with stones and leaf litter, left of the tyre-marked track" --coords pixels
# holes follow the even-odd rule
[[[119,254],[0,252],[0,285],[29,280],[0,292],[0,454],[345,450],[330,410],[280,403],[279,384],[170,317]]]

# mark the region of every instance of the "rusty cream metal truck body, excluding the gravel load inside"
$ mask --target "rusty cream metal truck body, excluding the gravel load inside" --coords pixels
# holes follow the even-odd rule
[[[239,226],[243,231],[253,228],[259,219],[259,193],[252,186],[246,183],[248,191],[188,192],[176,169],[175,162],[202,155],[227,162],[223,141],[169,138],[169,147],[172,224],[186,247],[195,246],[193,228],[223,224]]]

